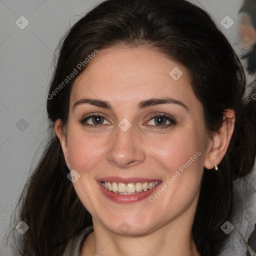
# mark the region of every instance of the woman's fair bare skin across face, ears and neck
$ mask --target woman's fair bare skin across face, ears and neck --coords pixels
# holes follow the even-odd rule
[[[183,73],[176,81],[169,75],[174,67]],[[164,97],[187,108],[168,103],[138,109],[143,100]],[[88,103],[73,109],[81,98],[107,100],[112,110]],[[82,125],[80,120],[91,113],[102,115],[103,124]],[[175,123],[156,128],[154,113],[172,116]],[[126,131],[118,127],[123,118],[131,123]],[[87,123],[93,124],[92,118]],[[80,174],[74,188],[93,220],[94,232],[80,255],[199,255],[191,226],[203,167],[221,161],[233,126],[234,111],[227,109],[222,127],[209,136],[186,69],[156,49],[122,45],[100,50],[73,84],[67,125],[55,122],[67,166]],[[200,156],[153,202],[114,202],[96,182],[117,176],[164,184],[197,151]],[[123,221],[130,226],[125,234],[118,228]]]

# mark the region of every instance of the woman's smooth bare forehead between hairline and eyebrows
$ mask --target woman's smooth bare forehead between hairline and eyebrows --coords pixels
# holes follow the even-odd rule
[[[164,96],[198,103],[185,67],[155,48],[116,46],[99,50],[90,60],[73,84],[70,104],[91,97],[129,106]]]

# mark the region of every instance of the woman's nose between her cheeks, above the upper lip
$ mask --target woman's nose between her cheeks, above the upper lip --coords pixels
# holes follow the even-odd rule
[[[115,136],[108,143],[107,160],[120,168],[137,165],[145,159],[144,144],[132,126],[126,131],[117,127]]]

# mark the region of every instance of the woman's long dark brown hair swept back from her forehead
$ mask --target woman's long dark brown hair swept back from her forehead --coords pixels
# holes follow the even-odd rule
[[[66,124],[72,84],[90,63],[76,68],[74,78],[58,93],[53,91],[95,49],[120,44],[147,45],[184,65],[209,133],[220,128],[225,109],[234,109],[229,147],[218,171],[204,169],[192,225],[200,255],[217,255],[227,238],[220,226],[232,219],[232,181],[249,173],[255,159],[255,100],[244,96],[246,80],[239,58],[210,16],[186,0],[105,0],[79,19],[57,48],[48,89],[54,96],[47,99],[47,146],[17,207],[17,220],[29,226],[23,235],[14,235],[20,255],[60,256],[71,237],[92,225],[66,177],[69,170],[53,131],[56,119]]]

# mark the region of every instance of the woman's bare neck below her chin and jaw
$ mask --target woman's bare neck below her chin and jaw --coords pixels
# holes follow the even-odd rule
[[[143,235],[120,235],[102,226],[95,219],[94,232],[85,239],[80,256],[200,256],[191,238],[191,221],[174,220]]]

